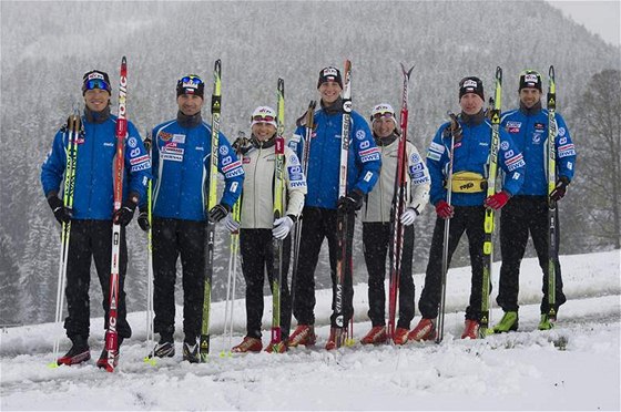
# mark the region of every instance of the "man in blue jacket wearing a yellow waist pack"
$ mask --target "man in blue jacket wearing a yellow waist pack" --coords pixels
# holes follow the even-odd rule
[[[472,266],[470,301],[466,309],[462,339],[477,339],[481,315],[483,268],[483,220],[486,207],[500,209],[517,194],[525,179],[525,161],[511,137],[500,131],[498,165],[505,171],[502,189],[487,195],[487,164],[490,154],[491,124],[483,113],[483,84],[479,78],[468,76],[459,82],[461,113],[457,122],[440,126],[429,150],[427,167],[431,175],[430,203],[436,206],[436,226],[425,276],[425,288],[418,308],[423,319],[408,334],[409,340],[434,339],[436,318],[441,295],[444,230],[450,219],[448,262],[464,231],[468,236],[470,264]],[[457,124],[456,124],[457,123]],[[452,184],[447,186],[451,134],[455,137]],[[447,203],[447,190],[451,203]]]

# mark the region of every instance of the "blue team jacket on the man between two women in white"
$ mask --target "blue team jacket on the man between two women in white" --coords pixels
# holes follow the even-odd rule
[[[347,193],[356,188],[366,195],[379,177],[381,159],[365,119],[355,111],[350,119]],[[308,152],[308,193],[304,205],[335,209],[338,200],[343,113],[328,114],[320,109],[315,113],[314,122],[316,128]],[[304,126],[298,127],[288,143],[299,159],[304,158],[305,130]]]

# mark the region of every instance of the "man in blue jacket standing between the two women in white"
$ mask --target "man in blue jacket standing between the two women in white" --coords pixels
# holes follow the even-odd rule
[[[335,349],[346,336],[347,323],[353,316],[354,287],[352,279],[352,246],[355,212],[363,206],[364,196],[370,192],[378,176],[381,161],[366,120],[352,112],[349,155],[347,164],[347,192],[339,198],[339,169],[343,125],[343,80],[338,69],[328,66],[319,72],[317,89],[322,96],[320,109],[314,114],[314,131],[308,142],[308,174],[299,258],[295,284],[293,312],[297,328],[288,339],[289,347],[314,344],[315,323],[315,268],[324,238],[328,239],[330,276],[333,284],[333,315],[330,334],[326,349]],[[289,147],[304,158],[305,126],[299,126]],[[336,266],[338,255],[337,213],[346,216],[349,236],[346,239],[345,279],[343,290],[343,319],[335,310]],[[347,258],[348,257],[348,258]]]

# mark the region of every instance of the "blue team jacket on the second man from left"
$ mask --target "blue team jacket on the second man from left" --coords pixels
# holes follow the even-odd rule
[[[206,220],[212,128],[182,127],[176,120],[153,128],[153,216]],[[218,135],[217,168],[224,175],[221,203],[232,207],[242,193],[244,168],[226,137]]]

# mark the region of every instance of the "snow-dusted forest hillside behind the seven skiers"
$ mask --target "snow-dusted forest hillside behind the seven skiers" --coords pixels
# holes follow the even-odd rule
[[[576,178],[560,205],[560,253],[621,247],[620,49],[543,1],[2,1],[0,7],[0,325],[53,320],[60,226],[45,203],[40,167],[57,130],[74,106],[83,106],[83,73],[110,74],[115,111],[114,79],[123,55],[129,119],[141,133],[176,115],[179,78],[195,73],[208,83],[214,61],[222,59],[222,131],[231,141],[238,131],[248,133],[254,107],[275,105],[278,78],[285,80],[291,134],[318,96],[322,68],[352,60],[354,110],[368,116],[380,102],[399,107],[399,63],[414,64],[408,135],[421,153],[446,112],[458,111],[461,78],[480,76],[489,95],[500,65],[508,110],[518,104],[519,73],[535,69],[546,79],[553,64],[558,112],[578,151]],[[208,122],[208,110],[203,115]],[[416,223],[415,272],[427,265],[434,222],[427,207]],[[128,239],[125,290],[133,312],[146,305],[146,236],[135,220]],[[464,244],[452,266],[468,262]],[[218,227],[215,301],[224,299],[227,261],[228,236]],[[354,266],[354,282],[366,282],[360,236]],[[329,285],[327,258],[320,258],[316,278],[317,288]],[[101,316],[94,279],[92,315]],[[242,296],[243,281],[237,285]]]

